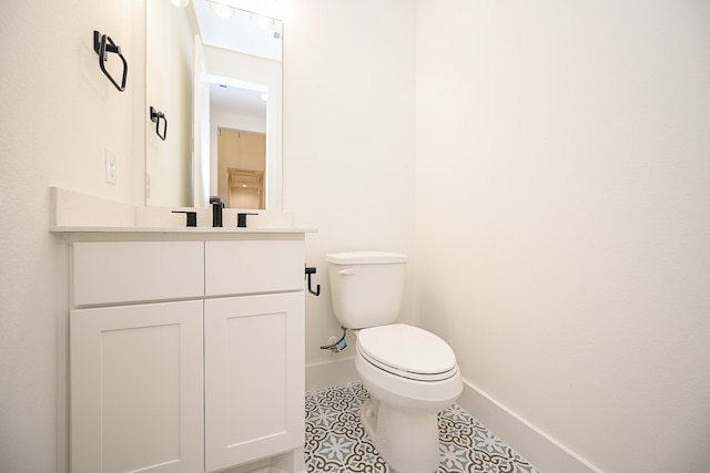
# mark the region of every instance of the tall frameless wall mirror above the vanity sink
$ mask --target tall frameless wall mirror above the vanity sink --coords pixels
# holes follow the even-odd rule
[[[282,208],[282,1],[146,0],[146,205]]]

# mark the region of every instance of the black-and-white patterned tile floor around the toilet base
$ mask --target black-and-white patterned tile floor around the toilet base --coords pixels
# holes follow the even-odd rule
[[[368,397],[359,382],[306,392],[308,473],[396,473],[359,423]],[[458,404],[439,414],[439,441],[437,473],[539,473]]]

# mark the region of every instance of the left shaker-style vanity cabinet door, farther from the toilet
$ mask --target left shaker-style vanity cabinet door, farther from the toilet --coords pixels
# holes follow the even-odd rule
[[[70,312],[71,472],[203,471],[203,301]]]

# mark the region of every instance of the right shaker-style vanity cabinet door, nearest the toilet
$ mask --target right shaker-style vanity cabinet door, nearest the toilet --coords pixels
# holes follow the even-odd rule
[[[205,300],[205,470],[303,446],[303,291]]]

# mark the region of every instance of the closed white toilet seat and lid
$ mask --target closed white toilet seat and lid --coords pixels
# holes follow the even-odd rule
[[[357,351],[381,370],[410,380],[442,381],[458,373],[456,356],[448,343],[404,323],[362,329]]]

